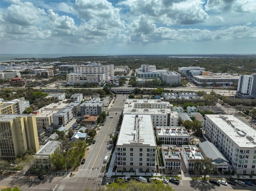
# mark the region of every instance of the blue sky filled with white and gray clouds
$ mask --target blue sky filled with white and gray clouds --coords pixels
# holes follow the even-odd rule
[[[256,53],[256,0],[0,0],[4,54]]]

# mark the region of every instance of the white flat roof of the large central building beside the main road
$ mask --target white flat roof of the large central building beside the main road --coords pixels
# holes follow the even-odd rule
[[[156,146],[150,115],[124,115],[117,145],[130,143]]]

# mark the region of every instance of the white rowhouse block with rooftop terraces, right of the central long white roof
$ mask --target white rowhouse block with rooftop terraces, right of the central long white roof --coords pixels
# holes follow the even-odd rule
[[[156,137],[162,144],[186,145],[190,140],[188,130],[181,126],[157,126]]]

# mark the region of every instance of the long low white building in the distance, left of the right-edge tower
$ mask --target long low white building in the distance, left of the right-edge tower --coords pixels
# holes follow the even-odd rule
[[[206,82],[209,85],[216,83],[219,86],[231,86],[238,82],[238,79],[238,76],[231,75],[193,76],[194,83],[198,85]]]

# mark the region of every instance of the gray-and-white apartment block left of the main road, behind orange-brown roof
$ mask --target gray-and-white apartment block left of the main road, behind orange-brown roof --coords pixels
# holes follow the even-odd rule
[[[80,105],[81,116],[86,114],[99,115],[104,111],[104,102],[100,98],[92,98],[90,101],[85,101]]]

